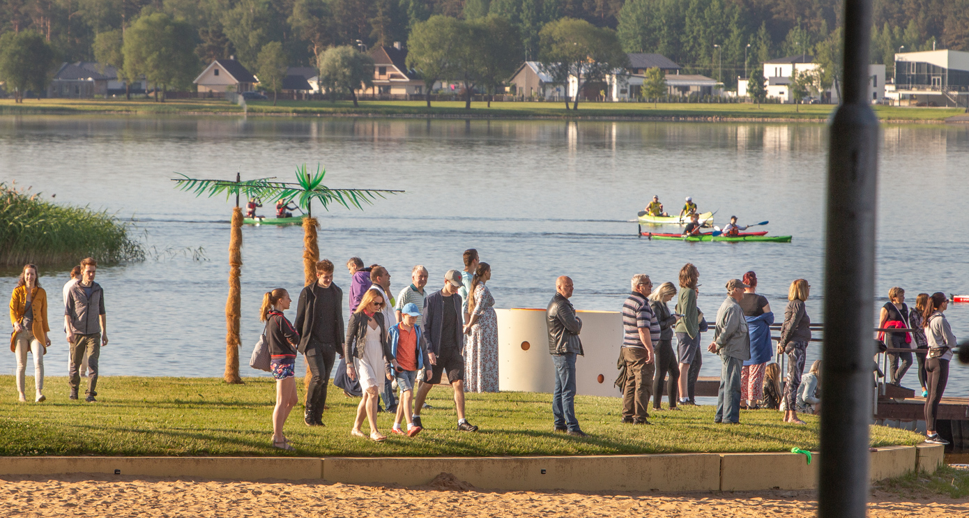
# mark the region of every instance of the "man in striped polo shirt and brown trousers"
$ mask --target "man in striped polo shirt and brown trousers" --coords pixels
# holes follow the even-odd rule
[[[652,396],[653,343],[660,339],[660,322],[649,307],[653,283],[649,276],[633,276],[633,292],[622,304],[622,359],[626,362],[626,384],[622,389],[622,422],[650,424],[646,404]]]

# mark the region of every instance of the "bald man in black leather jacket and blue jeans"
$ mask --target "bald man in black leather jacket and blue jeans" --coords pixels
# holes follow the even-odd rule
[[[587,437],[578,427],[576,418],[576,357],[584,355],[578,333],[582,320],[576,316],[576,308],[569,302],[575,285],[572,279],[561,276],[555,279],[555,294],[546,309],[548,329],[548,352],[555,366],[555,391],[551,396],[551,412],[554,432],[570,436]]]

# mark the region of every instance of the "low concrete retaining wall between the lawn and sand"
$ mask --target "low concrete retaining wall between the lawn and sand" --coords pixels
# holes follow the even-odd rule
[[[891,446],[871,453],[872,481],[935,472],[944,447]],[[819,456],[799,453],[683,453],[574,457],[0,457],[0,475],[113,473],[348,484],[422,485],[450,472],[482,489],[506,491],[761,491],[817,487]]]

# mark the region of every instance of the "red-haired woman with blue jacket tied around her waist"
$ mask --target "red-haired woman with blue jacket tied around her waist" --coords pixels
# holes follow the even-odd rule
[[[764,295],[757,294],[757,274],[749,271],[743,274],[743,283],[750,288],[744,289],[740,299],[743,317],[747,320],[750,333],[750,359],[743,362],[740,370],[740,408],[756,410],[758,402],[764,397],[764,371],[773,356],[770,342],[770,324],[774,314]]]

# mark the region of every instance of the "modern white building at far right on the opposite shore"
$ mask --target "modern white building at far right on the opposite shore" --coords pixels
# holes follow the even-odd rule
[[[895,54],[892,101],[900,105],[969,106],[969,52],[925,50]]]

